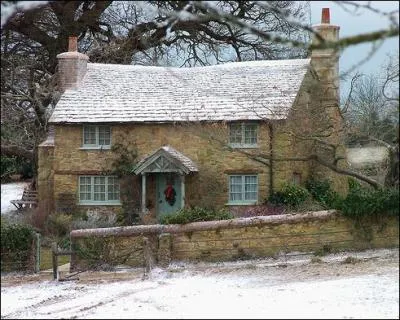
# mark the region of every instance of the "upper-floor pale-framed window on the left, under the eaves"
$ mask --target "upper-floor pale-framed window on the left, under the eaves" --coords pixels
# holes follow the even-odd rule
[[[85,149],[109,149],[111,147],[111,127],[83,126],[82,147]]]

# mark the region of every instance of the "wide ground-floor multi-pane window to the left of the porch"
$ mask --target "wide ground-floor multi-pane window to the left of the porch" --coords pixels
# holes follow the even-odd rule
[[[80,204],[120,204],[119,180],[114,176],[79,176]]]

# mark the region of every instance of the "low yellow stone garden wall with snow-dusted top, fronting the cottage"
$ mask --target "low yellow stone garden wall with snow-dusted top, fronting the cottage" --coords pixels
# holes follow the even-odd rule
[[[74,230],[71,243],[75,251],[72,269],[121,263],[168,265],[173,260],[224,261],[289,252],[398,247],[399,223],[398,217],[355,223],[331,210],[186,225]]]

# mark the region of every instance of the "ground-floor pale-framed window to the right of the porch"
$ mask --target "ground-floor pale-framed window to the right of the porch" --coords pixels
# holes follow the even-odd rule
[[[258,200],[257,175],[230,175],[228,203],[255,204]]]

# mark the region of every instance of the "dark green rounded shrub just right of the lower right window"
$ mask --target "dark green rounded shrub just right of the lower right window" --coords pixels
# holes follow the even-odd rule
[[[285,205],[295,209],[309,197],[307,189],[295,185],[285,184],[281,191],[274,192],[268,202],[274,205]]]

